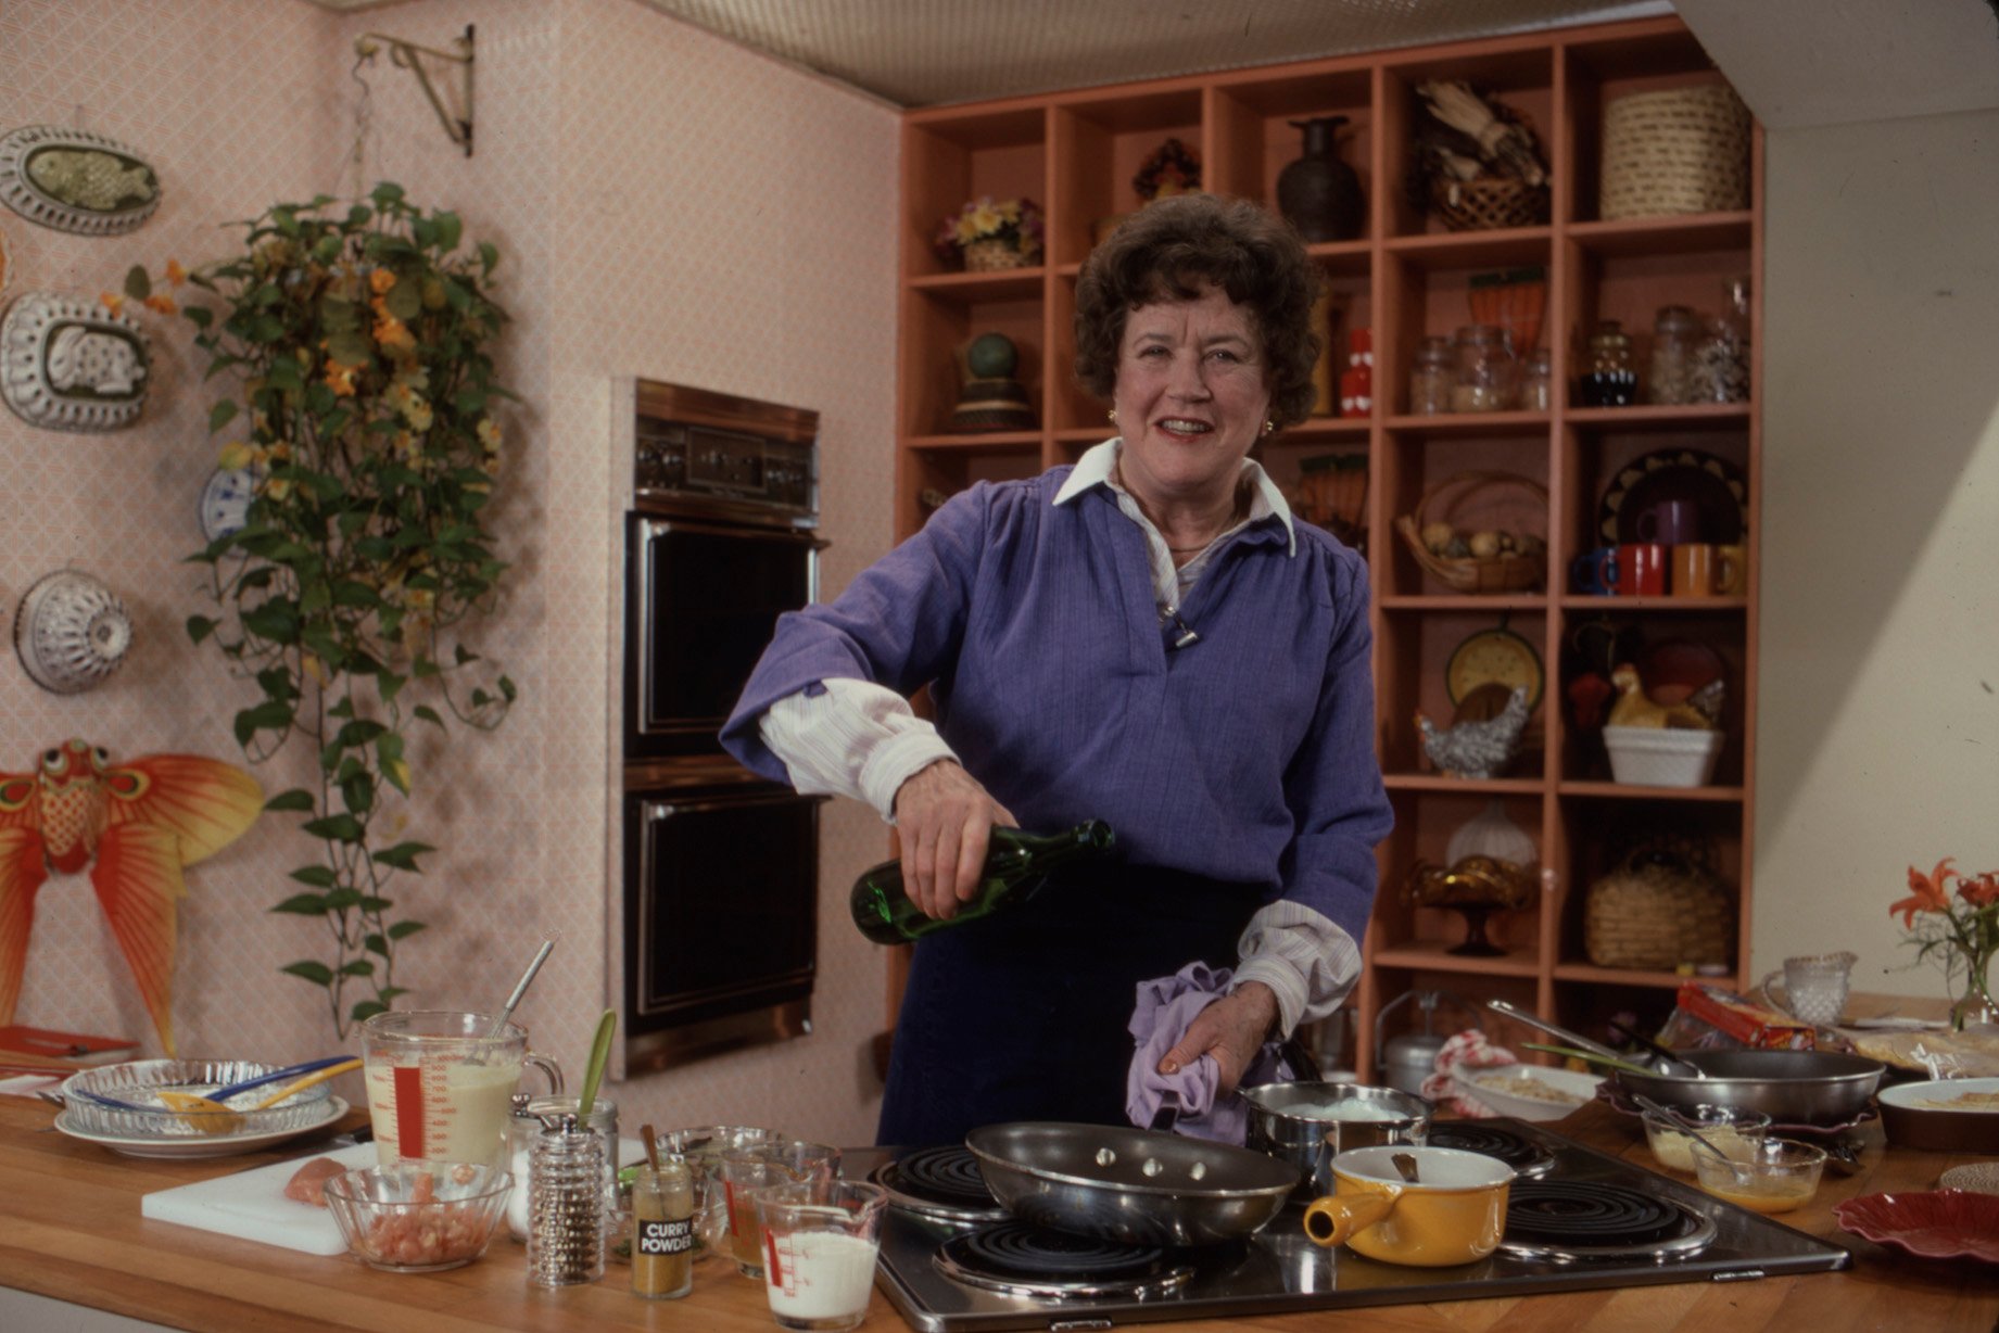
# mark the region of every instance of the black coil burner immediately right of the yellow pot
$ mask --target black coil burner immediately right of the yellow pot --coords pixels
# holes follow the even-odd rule
[[[1707,1249],[1715,1223],[1671,1199],[1601,1181],[1515,1181],[1501,1253],[1573,1263],[1671,1263]]]

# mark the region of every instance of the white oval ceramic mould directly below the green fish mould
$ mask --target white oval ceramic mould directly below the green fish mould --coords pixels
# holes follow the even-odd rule
[[[30,426],[104,432],[146,406],[146,330],[60,292],[22,292],[0,318],[0,398]]]

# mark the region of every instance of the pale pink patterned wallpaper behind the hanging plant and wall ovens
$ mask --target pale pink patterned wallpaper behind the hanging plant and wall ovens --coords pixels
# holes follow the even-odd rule
[[[446,142],[416,82],[352,42],[386,30],[448,46],[478,26],[478,152]],[[122,34],[146,32],[134,44]],[[366,88],[366,90],[364,90]],[[630,376],[822,414],[822,586],[836,594],[890,544],[896,120],[876,102],[660,16],[636,0],[420,0],[354,16],[270,0],[8,0],[0,130],[80,124],[140,148],[166,198],[136,234],[70,238],[0,212],[18,292],[116,288],[134,262],[198,262],[216,226],[280,198],[398,180],[502,250],[502,354],[522,406],[496,498],[510,596],[484,652],[522,687],[508,723],[416,755],[410,833],[440,845],[408,889],[430,931],[406,945],[412,1007],[496,1003],[544,933],[556,949],[522,1017],[578,1069],[614,1003],[616,654]],[[360,166],[354,152],[360,148]],[[152,318],[152,316],[148,316]],[[0,414],[0,604],[44,572],[90,570],[126,600],[136,648],[110,685],[72,697],[0,662],[0,771],[66,735],[116,753],[238,759],[246,697],[180,622],[200,610],[194,498],[214,462],[208,394],[184,324],[152,318],[142,422],[58,436]],[[288,771],[290,769],[290,771]],[[254,769],[268,789],[304,775]],[[822,821],[816,1031],[608,1089],[630,1127],[778,1123],[836,1143],[874,1131],[868,1041],[882,963],[846,927],[846,885],[884,855],[872,811]],[[314,925],[266,907],[310,855],[282,817],[190,871],[176,971],[184,1053],[306,1057],[332,1043],[304,983]],[[148,1033],[82,877],[42,889],[20,1021]],[[614,1071],[616,1073],[616,1071]],[[346,1089],[352,1095],[354,1089]]]

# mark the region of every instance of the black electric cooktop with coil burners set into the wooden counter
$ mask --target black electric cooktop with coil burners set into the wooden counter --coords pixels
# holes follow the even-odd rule
[[[1449,1269],[1375,1263],[1305,1239],[1287,1207],[1209,1249],[1147,1249],[1037,1231],[982,1195],[964,1149],[882,1153],[890,1189],[876,1285],[916,1329],[1103,1329],[1411,1301],[1829,1273],[1837,1245],[1721,1203],[1691,1183],[1511,1119],[1439,1123],[1439,1147],[1485,1151],[1519,1177],[1499,1251]],[[848,1169],[864,1165],[850,1155]]]

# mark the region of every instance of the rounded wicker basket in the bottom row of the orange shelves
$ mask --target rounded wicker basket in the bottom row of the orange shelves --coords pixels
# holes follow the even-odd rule
[[[1735,903],[1699,853],[1647,843],[1589,885],[1583,949],[1597,967],[1727,963]]]

